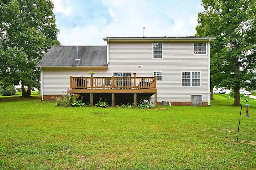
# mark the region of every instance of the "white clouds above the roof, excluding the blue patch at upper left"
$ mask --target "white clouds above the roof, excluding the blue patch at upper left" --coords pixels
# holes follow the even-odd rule
[[[58,2],[56,4],[59,6],[58,11],[63,12],[64,9],[70,9],[69,13],[76,12],[78,14],[77,11],[72,11],[76,10],[75,6],[73,6],[74,8],[63,6],[62,2],[64,1],[66,4],[68,3],[68,0],[54,0],[54,4]],[[158,4],[160,2],[158,1]],[[188,0],[188,2],[194,1]],[[102,3],[107,7],[108,16],[99,14],[100,16],[85,26],[60,27],[58,40],[62,45],[106,45],[102,38],[142,36],[143,27],[145,27],[145,36],[194,35],[197,13],[203,10],[198,7],[200,0],[187,5],[188,7],[184,6],[184,3],[178,5],[184,6],[184,9],[175,6],[179,3],[176,1],[176,4],[174,1],[163,2],[160,6],[148,0],[102,0]],[[195,6],[197,11],[192,11],[194,10],[192,6]]]

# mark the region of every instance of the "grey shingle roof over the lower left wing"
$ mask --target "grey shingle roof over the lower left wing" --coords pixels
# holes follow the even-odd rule
[[[106,46],[53,46],[36,67],[107,66]]]

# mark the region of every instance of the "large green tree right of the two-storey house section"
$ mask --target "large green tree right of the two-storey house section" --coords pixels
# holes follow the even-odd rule
[[[202,0],[196,36],[216,37],[211,44],[212,86],[234,89],[255,86],[256,0]]]

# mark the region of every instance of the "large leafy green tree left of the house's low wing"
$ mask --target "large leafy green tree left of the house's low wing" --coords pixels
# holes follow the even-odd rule
[[[60,45],[53,8],[51,0],[0,0],[0,82],[21,82],[24,97],[39,87],[36,63],[52,45]]]

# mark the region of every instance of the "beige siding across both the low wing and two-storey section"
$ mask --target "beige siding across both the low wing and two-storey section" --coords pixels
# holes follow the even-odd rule
[[[110,77],[113,72],[136,72],[140,77],[162,71],[162,80],[156,85],[158,102],[188,105],[191,95],[202,95],[203,106],[208,105],[208,54],[194,55],[193,43],[163,43],[162,59],[153,59],[152,43],[110,43],[108,70],[43,69],[43,95],[62,95],[70,87],[70,76],[89,77],[89,71],[95,72],[95,77]],[[182,87],[182,71],[200,71],[201,86]],[[150,100],[154,101],[154,95]]]

